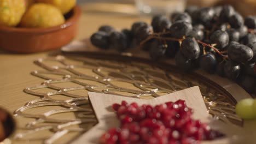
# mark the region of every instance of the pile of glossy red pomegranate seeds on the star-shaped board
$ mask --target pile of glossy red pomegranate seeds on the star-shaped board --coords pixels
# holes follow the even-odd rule
[[[211,130],[209,125],[194,120],[193,110],[184,100],[156,106],[137,103],[113,104],[121,121],[120,128],[109,129],[101,136],[101,143],[159,143],[186,144],[213,140],[223,136]]]

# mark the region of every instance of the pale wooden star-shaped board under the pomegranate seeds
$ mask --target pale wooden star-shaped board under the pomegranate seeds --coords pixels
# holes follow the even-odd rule
[[[188,107],[194,110],[193,118],[200,119],[201,122],[210,123],[212,120],[207,113],[205,103],[202,99],[199,87],[191,87],[183,89],[182,91],[177,91],[174,93],[166,94],[154,99],[137,99],[130,97],[120,97],[118,95],[102,94],[89,92],[90,102],[95,111],[95,115],[98,120],[98,124],[91,128],[85,134],[80,136],[73,143],[99,143],[100,136],[105,133],[109,128],[119,127],[120,123],[112,110],[112,104],[121,103],[122,100],[127,101],[127,103],[136,102],[138,105],[150,104],[158,105],[163,104],[167,101],[177,101],[178,99],[185,100]],[[202,143],[229,143],[228,139],[219,139],[215,141],[205,141]]]

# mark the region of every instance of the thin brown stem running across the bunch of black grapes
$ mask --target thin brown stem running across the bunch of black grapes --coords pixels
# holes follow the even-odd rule
[[[144,39],[143,41],[141,41],[141,43],[139,45],[142,46],[143,44],[145,44],[150,39],[173,40],[173,41],[179,41],[179,42],[181,42],[183,40],[183,39],[176,39],[176,38],[160,37],[160,35],[162,35],[162,34],[170,34],[170,32],[153,33],[152,35],[149,35],[147,39]],[[214,47],[214,45],[203,43],[200,40],[196,40],[196,42],[203,45],[203,46],[210,47],[211,49],[213,49],[215,52],[217,52],[223,58],[228,58],[227,55],[223,55],[223,53],[225,53],[225,52],[220,52],[218,49],[216,49],[216,47]]]

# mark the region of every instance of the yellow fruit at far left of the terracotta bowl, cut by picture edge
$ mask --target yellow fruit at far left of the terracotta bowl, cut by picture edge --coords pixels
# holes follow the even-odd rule
[[[0,0],[0,25],[15,27],[26,10],[26,0]]]

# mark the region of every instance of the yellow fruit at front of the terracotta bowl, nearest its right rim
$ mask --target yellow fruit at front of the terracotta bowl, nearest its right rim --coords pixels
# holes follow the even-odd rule
[[[33,4],[21,19],[21,27],[53,27],[61,25],[65,18],[61,11],[51,4]]]

